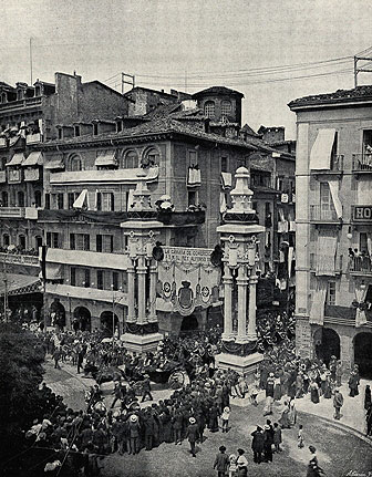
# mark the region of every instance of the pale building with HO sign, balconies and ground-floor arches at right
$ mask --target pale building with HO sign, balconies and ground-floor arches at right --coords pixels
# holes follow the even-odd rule
[[[372,86],[307,96],[297,113],[297,349],[372,369]]]

